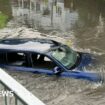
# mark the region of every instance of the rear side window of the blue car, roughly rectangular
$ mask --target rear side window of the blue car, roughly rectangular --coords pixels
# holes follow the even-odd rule
[[[28,66],[26,53],[8,52],[6,54],[7,64],[16,66]]]

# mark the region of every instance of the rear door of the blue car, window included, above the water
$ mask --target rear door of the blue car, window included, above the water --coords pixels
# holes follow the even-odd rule
[[[31,72],[31,64],[28,59],[29,53],[9,51],[5,52],[4,55],[5,62],[1,63],[1,66],[6,70]]]

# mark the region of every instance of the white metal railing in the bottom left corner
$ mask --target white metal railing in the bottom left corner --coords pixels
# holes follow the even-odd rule
[[[0,69],[0,105],[45,105],[20,83]]]

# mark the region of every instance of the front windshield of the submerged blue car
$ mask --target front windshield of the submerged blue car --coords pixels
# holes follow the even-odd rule
[[[68,46],[61,46],[52,51],[52,56],[70,69],[76,63],[78,53]]]

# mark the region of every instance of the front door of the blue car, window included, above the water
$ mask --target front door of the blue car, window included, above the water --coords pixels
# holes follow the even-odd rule
[[[53,69],[56,64],[46,55],[39,53],[31,53],[30,60],[32,64],[32,70],[34,73],[44,73],[47,75],[53,75]]]

